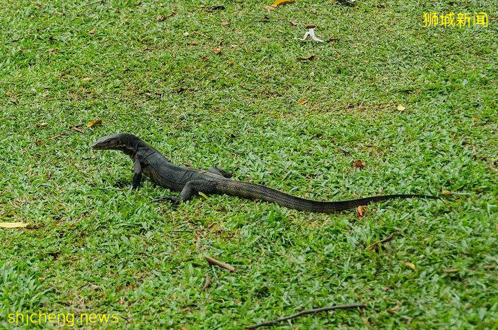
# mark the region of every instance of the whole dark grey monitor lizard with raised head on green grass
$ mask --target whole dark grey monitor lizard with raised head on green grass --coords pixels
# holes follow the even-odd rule
[[[104,136],[91,147],[96,150],[120,150],[130,156],[133,160],[133,189],[138,189],[142,174],[145,174],[159,185],[181,192],[179,197],[164,196],[155,201],[181,203],[192,199],[198,192],[202,192],[203,194],[228,194],[245,199],[261,199],[301,211],[331,213],[387,199],[412,197],[439,199],[436,196],[418,194],[392,194],[350,201],[312,201],[279,192],[265,185],[230,180],[232,176],[230,173],[216,167],[203,171],[174,165],[163,154],[131,134]]]

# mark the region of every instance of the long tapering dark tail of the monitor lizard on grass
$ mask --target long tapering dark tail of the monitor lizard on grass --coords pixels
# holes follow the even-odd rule
[[[300,211],[332,213],[342,210],[349,210],[360,205],[386,201],[388,199],[410,199],[426,198],[439,199],[438,196],[420,195],[420,194],[391,194],[382,196],[372,196],[362,199],[351,199],[349,201],[313,201],[311,199],[302,199],[297,196],[280,192],[279,190],[266,187],[266,185],[257,185],[243,181],[226,180],[216,185],[216,192],[228,194],[230,196],[242,197],[245,199],[261,199],[262,201],[274,202],[286,208],[293,208]]]

